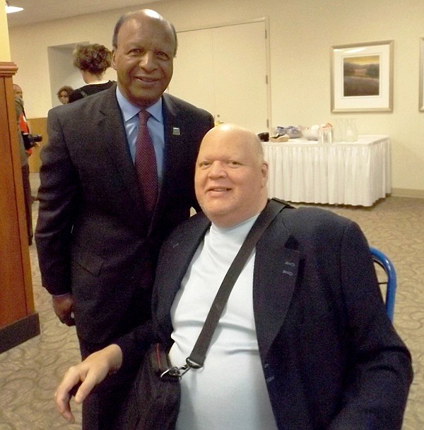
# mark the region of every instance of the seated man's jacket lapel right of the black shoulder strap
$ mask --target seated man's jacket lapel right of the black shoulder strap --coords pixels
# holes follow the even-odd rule
[[[299,268],[300,253],[285,248],[289,232],[278,224],[278,230],[271,226],[259,240],[254,265],[253,306],[263,360],[283,326]]]

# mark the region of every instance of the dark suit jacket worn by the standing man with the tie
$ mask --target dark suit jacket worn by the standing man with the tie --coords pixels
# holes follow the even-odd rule
[[[163,95],[163,184],[149,227],[115,91],[49,111],[35,233],[42,285],[73,294],[78,336],[99,345],[149,317],[158,249],[197,208],[194,165],[213,126],[208,112]]]

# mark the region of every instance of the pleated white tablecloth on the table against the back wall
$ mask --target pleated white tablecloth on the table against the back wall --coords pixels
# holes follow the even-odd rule
[[[388,136],[359,136],[353,143],[290,139],[264,142],[269,197],[296,203],[371,206],[391,192]]]

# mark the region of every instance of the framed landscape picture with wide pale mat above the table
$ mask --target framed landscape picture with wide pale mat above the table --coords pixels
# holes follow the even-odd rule
[[[331,47],[331,112],[393,111],[393,49],[393,40]]]

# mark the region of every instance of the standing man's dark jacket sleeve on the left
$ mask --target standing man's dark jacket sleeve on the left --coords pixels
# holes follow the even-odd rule
[[[66,148],[57,110],[49,111],[49,143],[40,155],[40,206],[35,240],[42,285],[50,294],[59,295],[71,290],[70,244],[78,197],[78,177]]]

